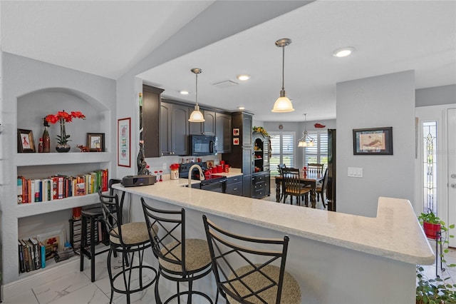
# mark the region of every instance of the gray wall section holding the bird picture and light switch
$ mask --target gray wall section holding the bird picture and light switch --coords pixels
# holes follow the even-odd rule
[[[337,211],[375,216],[379,196],[413,201],[415,72],[337,83]],[[353,129],[393,127],[393,155],[354,156]],[[363,168],[362,178],[348,167]]]

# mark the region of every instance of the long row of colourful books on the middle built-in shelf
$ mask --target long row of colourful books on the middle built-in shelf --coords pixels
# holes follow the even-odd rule
[[[71,196],[108,191],[108,169],[97,170],[78,176],[56,175],[31,179],[17,177],[17,203],[53,201]]]

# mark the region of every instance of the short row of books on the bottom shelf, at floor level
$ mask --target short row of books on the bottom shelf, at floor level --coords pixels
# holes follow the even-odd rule
[[[37,238],[19,239],[19,273],[46,267],[46,247]]]

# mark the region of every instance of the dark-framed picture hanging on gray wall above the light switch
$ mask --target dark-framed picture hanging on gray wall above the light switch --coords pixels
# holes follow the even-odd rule
[[[353,129],[353,155],[393,155],[393,127]]]

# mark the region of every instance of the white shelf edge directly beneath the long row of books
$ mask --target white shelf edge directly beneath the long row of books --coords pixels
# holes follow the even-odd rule
[[[22,203],[17,205],[17,218],[25,218],[27,216],[37,216],[43,213],[53,211],[61,211],[65,209],[92,205],[99,203],[98,193],[87,194],[86,196],[72,196],[71,198],[62,198],[60,200]]]

